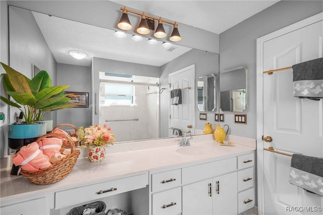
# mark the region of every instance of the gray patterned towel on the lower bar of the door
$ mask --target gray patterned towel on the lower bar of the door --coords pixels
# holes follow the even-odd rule
[[[289,182],[323,196],[323,158],[293,154]]]

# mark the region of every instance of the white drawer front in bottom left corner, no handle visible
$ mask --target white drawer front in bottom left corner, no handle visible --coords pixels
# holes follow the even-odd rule
[[[46,210],[46,198],[38,198],[19,203],[2,206],[0,208],[1,214],[24,214],[24,215],[44,215],[49,214]]]

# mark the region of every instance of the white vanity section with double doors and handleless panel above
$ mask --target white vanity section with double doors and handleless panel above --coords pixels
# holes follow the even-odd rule
[[[183,168],[183,182],[205,178],[183,185],[183,214],[237,214],[237,158]],[[196,174],[196,172],[198,172]],[[229,173],[228,173],[229,172]],[[230,173],[231,172],[231,173]],[[196,174],[195,177],[193,176]],[[227,173],[227,174],[224,174]],[[224,174],[224,175],[221,175]],[[184,180],[186,176],[190,179]]]

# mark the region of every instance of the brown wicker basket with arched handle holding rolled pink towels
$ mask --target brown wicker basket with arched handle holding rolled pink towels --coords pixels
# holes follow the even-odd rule
[[[79,150],[75,150],[73,140],[67,135],[56,133],[45,134],[39,137],[36,142],[39,144],[39,141],[45,137],[66,138],[70,144],[71,153],[45,169],[38,171],[21,170],[20,174],[33,184],[45,185],[61,181],[71,172],[80,154]]]

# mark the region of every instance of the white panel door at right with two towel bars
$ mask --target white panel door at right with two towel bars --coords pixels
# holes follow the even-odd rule
[[[322,21],[265,41],[263,71],[290,67],[321,55]],[[323,157],[323,99],[293,97],[293,90],[292,69],[263,74],[263,135],[273,141],[263,141],[258,147]],[[290,156],[263,151],[265,214],[295,214],[300,212],[289,208],[322,204],[318,195],[289,183],[290,162]]]

